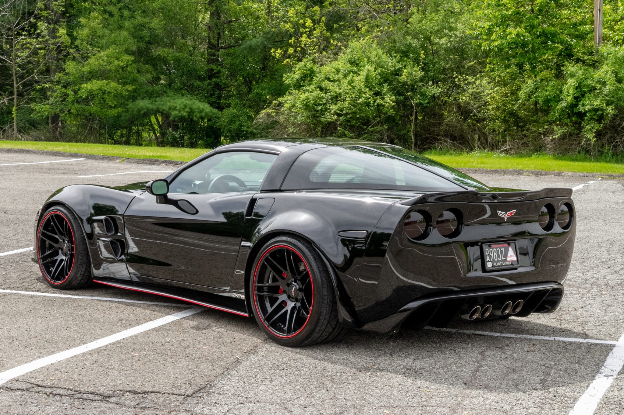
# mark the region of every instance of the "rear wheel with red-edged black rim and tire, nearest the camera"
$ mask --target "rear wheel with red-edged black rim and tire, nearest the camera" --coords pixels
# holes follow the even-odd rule
[[[248,289],[256,322],[280,345],[329,342],[342,332],[329,270],[303,238],[279,236],[268,241],[251,268]]]

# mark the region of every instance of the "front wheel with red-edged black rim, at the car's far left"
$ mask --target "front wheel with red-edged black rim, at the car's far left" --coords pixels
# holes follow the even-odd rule
[[[46,210],[35,240],[39,270],[56,289],[75,289],[92,282],[89,249],[82,226],[67,207]]]

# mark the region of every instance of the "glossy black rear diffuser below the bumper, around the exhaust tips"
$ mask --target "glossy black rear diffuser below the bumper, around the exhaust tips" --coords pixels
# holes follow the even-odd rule
[[[467,304],[494,304],[501,301],[524,301],[515,317],[532,313],[549,313],[557,309],[563,297],[559,282],[516,284],[507,287],[445,292],[411,301],[388,317],[368,322],[361,329],[378,333],[394,333],[401,327],[422,329],[426,325],[446,327]],[[495,318],[492,315],[490,318]]]

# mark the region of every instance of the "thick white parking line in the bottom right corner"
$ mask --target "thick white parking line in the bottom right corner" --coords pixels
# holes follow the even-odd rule
[[[613,348],[602,365],[598,375],[583,393],[570,411],[570,415],[591,415],[596,410],[600,399],[607,391],[613,380],[624,366],[624,335],[620,337],[620,344]]]

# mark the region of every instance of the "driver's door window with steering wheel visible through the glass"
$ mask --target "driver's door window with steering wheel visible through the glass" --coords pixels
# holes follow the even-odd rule
[[[215,154],[183,170],[169,184],[171,193],[207,194],[260,190],[275,154],[232,151]]]

